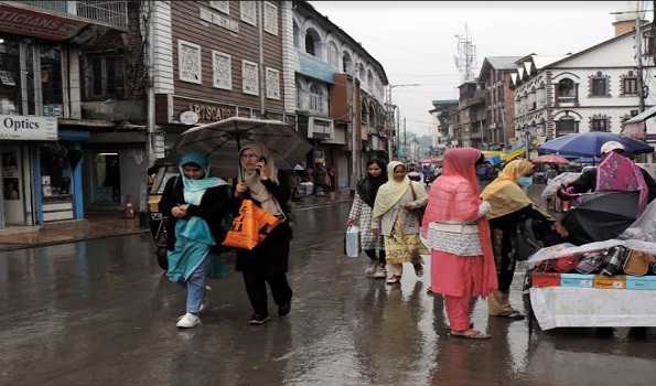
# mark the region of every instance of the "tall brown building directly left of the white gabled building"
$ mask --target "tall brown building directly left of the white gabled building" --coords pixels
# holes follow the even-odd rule
[[[510,144],[515,137],[515,98],[512,74],[519,56],[487,56],[481,66],[478,83],[487,94],[485,107],[487,125],[483,128],[483,143],[491,150]]]

